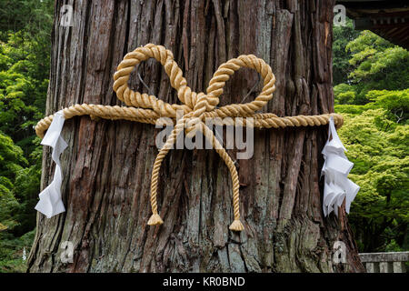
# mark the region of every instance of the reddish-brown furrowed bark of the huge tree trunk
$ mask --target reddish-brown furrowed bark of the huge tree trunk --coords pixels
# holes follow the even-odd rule
[[[60,25],[64,4],[74,6],[72,27]],[[46,114],[75,103],[120,105],[112,90],[116,65],[147,43],[172,50],[196,92],[205,91],[224,61],[254,54],[277,78],[265,112],[333,112],[333,6],[324,0],[56,1]],[[152,94],[176,102],[160,64],[149,60],[138,70]],[[254,71],[239,70],[221,105],[242,102],[257,82]],[[135,72],[130,85],[147,91]],[[66,212],[37,216],[29,272],[364,271],[344,211],[340,218],[322,212],[326,126],[255,130],[254,156],[237,166],[241,234],[228,229],[231,181],[214,150],[171,151],[158,192],[165,224],[146,226],[158,131],[88,116],[65,122]],[[44,153],[43,187],[54,173],[50,150]],[[337,240],[346,245],[346,264],[334,264]],[[65,241],[73,243],[73,263],[60,259]]]

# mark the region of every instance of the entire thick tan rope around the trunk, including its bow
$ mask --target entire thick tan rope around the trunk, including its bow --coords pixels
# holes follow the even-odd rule
[[[165,73],[170,78],[170,84],[177,91],[177,97],[182,103],[168,104],[155,95],[141,94],[130,89],[127,85],[129,77],[135,68],[135,65],[149,59],[155,58],[165,67]],[[263,89],[254,101],[245,104],[224,105],[215,108],[219,104],[219,96],[224,92],[224,85],[230,76],[241,67],[253,68],[264,79]],[[286,126],[314,126],[326,125],[329,117],[334,117],[335,125],[343,124],[343,117],[336,114],[324,115],[297,115],[278,117],[274,114],[256,114],[271,98],[275,90],[275,77],[270,65],[265,64],[263,59],[254,55],[240,55],[228,62],[220,65],[214,73],[206,93],[196,93],[186,82],[182,70],[176,64],[174,55],[171,51],[165,49],[162,45],[148,44],[138,47],[135,51],[125,55],[124,60],[118,65],[114,74],[114,91],[118,99],[123,101],[126,106],[108,106],[108,105],[72,105],[63,109],[65,119],[75,115],[91,115],[91,117],[101,117],[105,119],[126,119],[147,124],[155,124],[160,117],[176,117],[176,111],[182,110],[184,115],[178,119],[172,133],[167,137],[165,146],[163,146],[155,158],[154,168],[151,177],[151,207],[153,215],[149,218],[148,225],[155,226],[163,224],[162,218],[157,211],[157,182],[159,170],[165,156],[175,144],[176,137],[185,130],[187,135],[193,135],[199,130],[205,138],[212,143],[213,148],[222,157],[225,165],[230,171],[233,182],[233,206],[234,222],[229,227],[234,231],[244,229],[240,221],[239,208],[239,181],[234,162],[215,138],[213,131],[204,123],[205,118],[216,117],[252,117],[253,122],[249,123],[245,118],[240,121],[233,119],[234,125],[247,125],[260,128],[284,128]],[[145,108],[145,109],[144,109]],[[35,126],[35,132],[38,136],[44,136],[45,130],[51,125],[53,115],[47,116]]]

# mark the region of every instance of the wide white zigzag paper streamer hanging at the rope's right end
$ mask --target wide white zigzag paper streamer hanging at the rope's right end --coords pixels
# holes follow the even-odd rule
[[[332,136],[332,139],[330,140]],[[324,178],[324,216],[328,216],[334,211],[338,216],[338,207],[341,206],[345,199],[345,211],[349,213],[351,203],[359,191],[359,186],[347,178],[354,163],[348,161],[345,156],[346,148],[341,142],[335,130],[334,118],[329,120],[328,140],[322,151],[324,155],[324,166],[321,176]]]

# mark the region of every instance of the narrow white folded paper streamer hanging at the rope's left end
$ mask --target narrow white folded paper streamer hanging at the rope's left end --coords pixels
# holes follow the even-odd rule
[[[54,179],[40,194],[40,201],[35,206],[35,210],[41,212],[47,218],[65,212],[63,200],[61,199],[61,183],[63,175],[61,172],[60,155],[64,152],[67,144],[61,136],[61,130],[65,122],[63,111],[55,113],[53,122],[48,128],[41,145],[53,147],[52,158],[55,162]]]

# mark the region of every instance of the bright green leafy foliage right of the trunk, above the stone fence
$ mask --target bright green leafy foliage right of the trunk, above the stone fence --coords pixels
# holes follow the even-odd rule
[[[364,252],[384,251],[393,240],[404,246],[409,223],[409,124],[390,119],[384,95],[374,104],[335,106],[344,115],[339,135],[354,162],[349,177],[361,186],[349,219]]]

